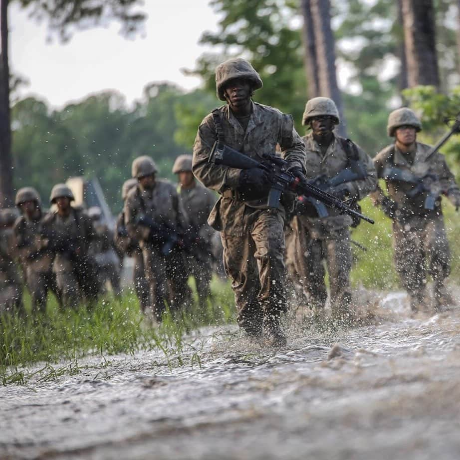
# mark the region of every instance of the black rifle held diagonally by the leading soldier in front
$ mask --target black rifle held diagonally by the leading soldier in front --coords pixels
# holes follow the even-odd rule
[[[228,166],[230,168],[250,169],[261,168],[268,173],[271,187],[268,193],[268,208],[278,209],[281,194],[284,191],[295,192],[298,195],[312,197],[326,206],[338,210],[342,214],[354,216],[357,219],[363,219],[370,224],[374,221],[369,217],[351,209],[344,202],[334,195],[321,190],[313,184],[300,184],[299,179],[287,171],[288,162],[276,155],[262,155],[263,161],[258,162],[253,158],[244,155],[237,150],[232,149],[219,141],[214,143],[209,157],[209,162],[216,165]]]

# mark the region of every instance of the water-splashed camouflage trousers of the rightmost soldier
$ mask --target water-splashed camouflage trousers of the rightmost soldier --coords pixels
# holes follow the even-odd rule
[[[411,302],[425,300],[427,276],[434,282],[435,302],[444,293],[444,280],[451,271],[451,252],[443,219],[423,225],[393,223],[395,267]]]

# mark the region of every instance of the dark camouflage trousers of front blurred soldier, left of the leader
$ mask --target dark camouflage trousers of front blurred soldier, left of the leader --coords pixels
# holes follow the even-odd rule
[[[176,249],[165,256],[157,246],[146,243],[142,254],[150,289],[150,307],[157,319],[161,320],[166,304],[172,311],[189,306],[192,293],[187,284],[182,253]]]

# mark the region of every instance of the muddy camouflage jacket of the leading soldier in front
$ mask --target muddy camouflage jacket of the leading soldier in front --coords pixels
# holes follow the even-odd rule
[[[226,145],[259,161],[263,154],[274,154],[279,145],[283,158],[289,162],[289,169],[299,167],[305,171],[305,148],[290,115],[252,102],[252,113],[244,130],[228,105],[217,110],[221,114]],[[267,209],[269,188],[257,200],[239,200],[237,188],[241,170],[217,166],[208,161],[216,140],[213,114],[209,114],[198,128],[193,150],[193,172],[205,187],[223,195],[216,203],[208,223],[216,230],[241,236],[242,216],[246,206]]]

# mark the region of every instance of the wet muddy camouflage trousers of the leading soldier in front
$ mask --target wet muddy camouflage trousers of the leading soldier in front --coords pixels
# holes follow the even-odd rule
[[[282,214],[246,207],[243,235],[223,231],[221,237],[238,324],[246,331],[256,331],[264,315],[279,316],[286,311]]]

